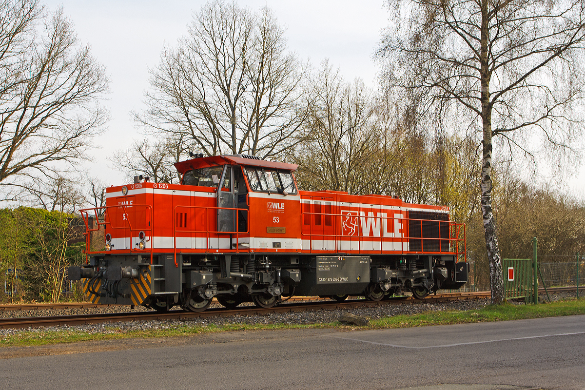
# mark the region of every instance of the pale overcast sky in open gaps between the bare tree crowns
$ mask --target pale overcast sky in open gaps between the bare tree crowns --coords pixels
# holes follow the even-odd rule
[[[204,0],[45,0],[47,11],[63,6],[82,43],[90,44],[94,56],[111,78],[111,94],[105,105],[111,113],[108,130],[96,140],[90,172],[108,185],[121,184],[123,174],[112,170],[105,157],[130,146],[139,137],[130,111],[140,111],[149,87],[148,70],[154,67],[165,45],[174,45],[187,32],[192,12]],[[240,6],[256,11],[273,9],[287,28],[288,48],[315,67],[329,58],[347,80],[362,78],[374,88],[376,67],[372,56],[388,12],[383,0],[240,0]]]

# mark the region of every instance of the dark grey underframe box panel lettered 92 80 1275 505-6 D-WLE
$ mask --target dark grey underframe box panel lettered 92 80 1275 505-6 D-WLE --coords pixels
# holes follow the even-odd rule
[[[369,283],[370,257],[317,257],[317,284]]]

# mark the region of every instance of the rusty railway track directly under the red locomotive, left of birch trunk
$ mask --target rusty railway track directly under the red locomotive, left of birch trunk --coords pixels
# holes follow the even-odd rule
[[[457,301],[463,299],[481,299],[488,298],[489,292],[467,292],[467,293],[448,293],[437,294],[419,300],[414,298],[391,298],[388,301],[373,302],[365,299],[355,299],[351,301],[336,302],[331,299],[321,299],[318,302],[292,302],[281,303],[270,309],[257,308],[255,306],[244,306],[233,310],[225,308],[211,308],[201,313],[187,312],[185,310],[171,310],[166,313],[159,312],[137,312],[137,313],[106,313],[90,315],[71,315],[71,316],[45,316],[45,317],[15,317],[0,319],[0,328],[2,329],[22,329],[26,327],[39,326],[62,326],[62,325],[86,325],[102,322],[127,322],[135,320],[170,320],[170,319],[192,319],[213,316],[233,316],[233,315],[263,315],[269,313],[296,312],[302,310],[319,310],[319,309],[343,309],[356,307],[372,307],[380,305],[401,305],[417,304],[422,302],[445,302]],[[93,307],[93,306],[92,306]]]

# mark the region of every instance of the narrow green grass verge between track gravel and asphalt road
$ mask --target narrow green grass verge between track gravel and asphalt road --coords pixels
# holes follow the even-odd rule
[[[427,312],[417,315],[398,315],[370,321],[369,327],[342,325],[339,322],[315,323],[308,325],[228,323],[225,325],[189,326],[161,323],[147,330],[123,330],[115,326],[101,326],[91,332],[71,327],[67,330],[22,329],[5,334],[0,339],[0,347],[42,346],[47,344],[73,343],[77,341],[96,341],[113,339],[133,339],[146,337],[180,337],[194,334],[230,332],[242,330],[277,329],[391,329],[416,326],[452,325],[458,323],[493,322],[541,317],[556,317],[585,314],[585,299],[570,299],[541,305],[495,305],[467,311]]]

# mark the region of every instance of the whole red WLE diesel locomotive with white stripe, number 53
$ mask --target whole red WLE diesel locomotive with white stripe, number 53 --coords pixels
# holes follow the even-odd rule
[[[175,166],[181,184],[135,180],[82,210],[87,264],[69,278],[90,301],[268,308],[292,295],[424,298],[467,282],[464,225],[445,207],[299,191],[297,165],[245,155]]]

